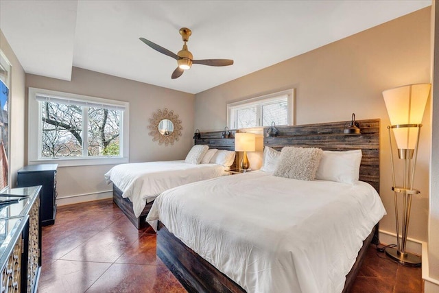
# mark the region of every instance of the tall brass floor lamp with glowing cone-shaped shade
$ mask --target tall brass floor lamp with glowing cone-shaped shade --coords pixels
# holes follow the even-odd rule
[[[407,231],[410,222],[412,196],[420,191],[413,188],[416,159],[418,156],[419,134],[423,120],[425,104],[429,97],[431,84],[410,84],[383,91],[385,107],[390,117],[388,126],[390,139],[390,161],[392,163],[392,190],[394,193],[396,220],[396,248],[385,248],[385,253],[405,266],[420,266],[418,255],[407,253]],[[395,161],[392,151],[392,132],[398,148],[399,159],[403,160],[402,184],[397,186],[395,180]],[[401,230],[398,202],[402,200]]]

